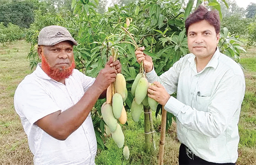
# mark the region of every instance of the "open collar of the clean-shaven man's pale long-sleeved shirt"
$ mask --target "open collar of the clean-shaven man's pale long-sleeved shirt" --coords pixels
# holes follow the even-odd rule
[[[213,67],[214,69],[216,69],[216,67],[218,66],[218,58],[220,56],[220,50],[216,49],[215,53],[213,54],[212,58],[210,59],[210,61],[208,62],[207,67]],[[190,66],[192,68],[194,68],[196,66],[196,63],[195,63],[195,55],[192,54],[191,57],[188,58],[188,61],[190,62]]]

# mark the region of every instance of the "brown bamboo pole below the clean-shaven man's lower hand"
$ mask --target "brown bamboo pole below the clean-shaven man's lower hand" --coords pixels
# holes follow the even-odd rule
[[[164,142],[165,142],[165,132],[166,132],[166,115],[167,112],[162,106],[162,122],[161,122],[161,136],[159,144],[159,158],[158,165],[163,165],[163,151],[164,151]]]

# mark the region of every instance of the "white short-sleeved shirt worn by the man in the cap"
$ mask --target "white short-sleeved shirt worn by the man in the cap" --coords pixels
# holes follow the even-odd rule
[[[15,91],[15,110],[28,136],[35,165],[94,165],[96,136],[90,114],[66,140],[53,138],[34,123],[58,110],[63,112],[76,104],[95,78],[74,69],[65,84],[51,79],[38,64]]]

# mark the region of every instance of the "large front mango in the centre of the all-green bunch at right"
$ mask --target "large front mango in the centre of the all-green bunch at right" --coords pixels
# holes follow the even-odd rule
[[[148,94],[148,80],[144,77],[140,78],[135,90],[135,101],[140,104]]]

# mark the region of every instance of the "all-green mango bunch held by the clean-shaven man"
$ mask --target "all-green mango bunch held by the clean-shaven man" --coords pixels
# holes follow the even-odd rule
[[[131,117],[134,122],[139,122],[143,106],[149,106],[153,111],[157,110],[158,102],[147,95],[148,85],[153,84],[148,82],[143,73],[137,74],[131,86],[131,94],[134,96],[134,100],[131,104]]]

